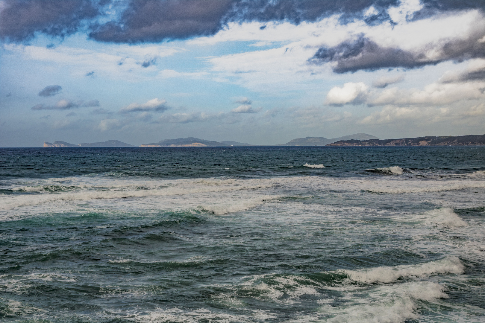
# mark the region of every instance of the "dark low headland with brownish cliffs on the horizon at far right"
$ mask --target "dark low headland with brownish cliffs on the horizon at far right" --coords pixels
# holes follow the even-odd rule
[[[400,139],[340,140],[326,146],[485,146],[485,135]]]

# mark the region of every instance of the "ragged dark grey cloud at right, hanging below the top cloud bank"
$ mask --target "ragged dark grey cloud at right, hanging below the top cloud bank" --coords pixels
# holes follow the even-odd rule
[[[412,69],[433,65],[444,61],[463,62],[472,58],[485,58],[485,43],[481,39],[485,29],[473,31],[467,38],[448,39],[441,44],[430,44],[416,51],[398,47],[380,46],[361,34],[334,47],[322,47],[309,60],[310,63],[333,62],[335,73],[374,71],[381,68]],[[428,50],[434,49],[439,55],[429,58]]]

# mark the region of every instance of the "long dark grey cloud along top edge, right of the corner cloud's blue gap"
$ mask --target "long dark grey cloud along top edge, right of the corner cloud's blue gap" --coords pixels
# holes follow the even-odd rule
[[[299,24],[333,14],[350,21],[363,18],[362,12],[373,5],[377,14],[366,20],[372,23],[388,19],[387,8],[398,4],[399,0],[137,0],[129,2],[118,21],[94,25],[90,37],[114,43],[160,42],[213,35],[231,21]]]

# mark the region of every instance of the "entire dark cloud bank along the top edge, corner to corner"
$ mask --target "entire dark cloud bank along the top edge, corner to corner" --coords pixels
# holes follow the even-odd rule
[[[390,21],[388,8],[400,0],[5,0],[0,12],[0,39],[24,42],[35,32],[64,37],[81,27],[102,42],[144,43],[212,35],[228,22],[289,21],[299,24],[338,14],[342,23],[364,19]],[[109,3],[119,18],[97,22]],[[483,0],[421,0],[423,8],[410,19],[446,11],[485,10]],[[122,5],[125,5],[122,8]],[[373,15],[364,12],[374,8]],[[112,10],[113,10],[112,8]],[[391,21],[391,23],[393,23]],[[263,26],[261,29],[264,29]]]

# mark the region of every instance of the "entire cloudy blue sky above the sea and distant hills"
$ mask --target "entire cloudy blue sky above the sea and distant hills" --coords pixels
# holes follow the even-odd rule
[[[0,146],[485,134],[483,0],[0,0]]]

